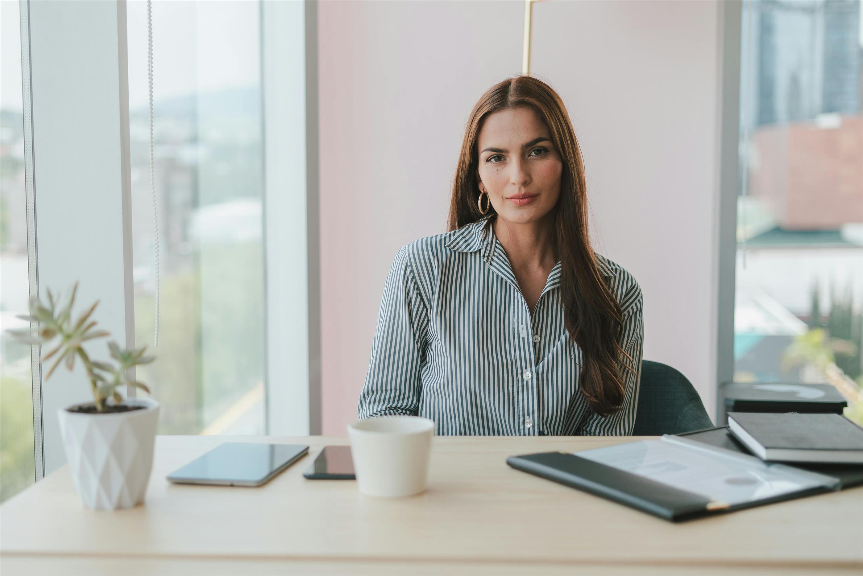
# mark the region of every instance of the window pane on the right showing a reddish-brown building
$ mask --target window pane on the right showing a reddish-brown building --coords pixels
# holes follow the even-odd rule
[[[831,382],[852,401],[863,386],[860,5],[743,4],[734,315],[734,379]],[[863,403],[848,413],[863,421]]]

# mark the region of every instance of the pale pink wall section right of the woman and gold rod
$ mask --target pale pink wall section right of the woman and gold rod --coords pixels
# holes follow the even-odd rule
[[[641,285],[646,360],[689,378],[710,415],[719,9],[716,2],[673,1],[533,8],[534,70],[554,82],[581,143],[595,248]]]

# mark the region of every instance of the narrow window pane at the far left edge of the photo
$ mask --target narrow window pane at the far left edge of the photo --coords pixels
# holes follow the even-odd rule
[[[27,328],[27,194],[24,186],[18,3],[0,3],[0,329]],[[0,502],[35,482],[30,347],[0,332]]]

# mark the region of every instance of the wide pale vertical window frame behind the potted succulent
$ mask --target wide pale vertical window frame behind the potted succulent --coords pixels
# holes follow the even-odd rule
[[[30,293],[44,300],[44,288],[51,288],[66,297],[80,280],[76,302],[98,299],[99,323],[133,347],[126,4],[22,0],[21,12]],[[75,66],[83,61],[86,71]],[[31,362],[39,479],[66,461],[52,415],[91,393],[80,363],[43,385],[41,347]]]

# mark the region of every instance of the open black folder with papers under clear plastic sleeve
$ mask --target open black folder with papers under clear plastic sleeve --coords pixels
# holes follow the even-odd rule
[[[672,522],[840,485],[822,474],[671,435],[576,453],[511,456],[507,464]]]

